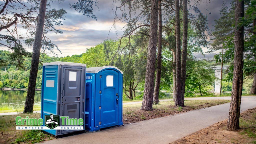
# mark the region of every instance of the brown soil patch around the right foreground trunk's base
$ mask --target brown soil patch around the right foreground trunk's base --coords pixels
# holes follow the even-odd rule
[[[256,107],[240,114],[240,129],[227,131],[227,119],[173,143],[256,143]]]

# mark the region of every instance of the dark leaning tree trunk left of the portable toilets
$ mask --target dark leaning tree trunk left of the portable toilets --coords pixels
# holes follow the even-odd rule
[[[31,69],[30,69],[30,75],[29,75],[29,81],[28,81],[28,92],[27,92],[25,107],[23,111],[24,113],[33,113],[36,77],[37,77],[37,71],[38,71],[42,35],[44,30],[46,3],[47,1],[40,2],[39,14],[37,17],[35,42],[33,45],[33,52],[32,52]]]

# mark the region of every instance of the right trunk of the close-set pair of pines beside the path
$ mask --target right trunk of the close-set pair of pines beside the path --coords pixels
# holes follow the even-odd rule
[[[187,47],[188,47],[188,2],[183,1],[183,40],[182,40],[182,103],[184,105],[184,95],[186,86],[186,65],[187,65]]]

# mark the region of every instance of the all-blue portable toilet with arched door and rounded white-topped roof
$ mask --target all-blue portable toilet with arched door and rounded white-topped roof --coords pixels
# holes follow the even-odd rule
[[[86,70],[85,130],[123,125],[123,72],[113,66]]]

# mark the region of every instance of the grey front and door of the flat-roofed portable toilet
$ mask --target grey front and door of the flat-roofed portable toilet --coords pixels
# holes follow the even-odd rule
[[[61,70],[61,112],[62,116],[83,118],[84,112],[84,73],[85,69],[72,66],[63,66]],[[84,119],[84,118],[83,118]],[[65,119],[65,125],[67,125]],[[78,126],[78,125],[77,125]],[[78,131],[77,129],[61,130],[61,134]]]

